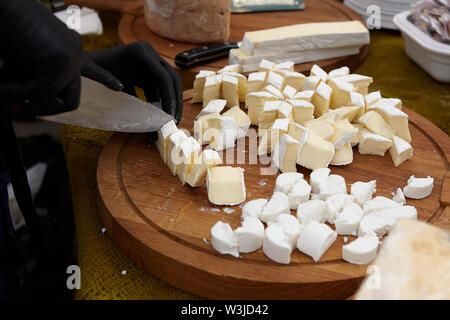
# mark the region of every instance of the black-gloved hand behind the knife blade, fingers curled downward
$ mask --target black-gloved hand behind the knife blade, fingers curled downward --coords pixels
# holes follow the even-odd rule
[[[81,68],[84,76],[108,85],[114,82],[114,78],[105,74],[107,70],[123,84],[124,92],[135,95],[134,86],[140,87],[144,90],[147,101],[161,101],[165,112],[177,122],[181,119],[183,91],[180,76],[149,43],[140,41],[85,52],[84,59]]]

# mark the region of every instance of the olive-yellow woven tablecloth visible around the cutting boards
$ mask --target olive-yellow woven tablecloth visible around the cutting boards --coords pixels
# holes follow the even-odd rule
[[[118,15],[101,13],[103,36],[83,37],[86,50],[118,44]],[[370,90],[402,99],[404,105],[450,133],[450,85],[429,77],[405,54],[401,35],[371,31],[367,60],[356,71],[370,75]],[[185,88],[187,89],[187,88]],[[76,224],[76,255],[83,273],[77,299],[192,299],[185,292],[153,278],[136,267],[102,233],[96,210],[96,165],[111,133],[76,126],[63,127],[63,145],[69,168]],[[123,274],[123,271],[126,271]]]

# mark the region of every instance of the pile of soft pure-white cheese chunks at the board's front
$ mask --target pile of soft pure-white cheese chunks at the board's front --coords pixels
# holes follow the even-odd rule
[[[412,185],[420,186],[417,194]],[[423,198],[431,194],[432,187],[430,177],[411,177],[403,190]],[[357,238],[342,246],[342,259],[367,264],[375,259],[380,240],[398,220],[417,219],[416,208],[406,205],[400,188],[393,199],[374,198],[375,192],[373,180],[353,183],[348,193],[345,179],[330,174],[328,168],[312,171],[310,183],[301,173],[282,173],[269,200],[245,204],[239,228],[233,231],[228,223],[218,221],[211,229],[211,244],[218,252],[235,257],[262,248],[271,260],[289,264],[296,248],[317,262],[338,235],[345,236],[344,242],[353,236]],[[296,216],[291,210],[296,210]]]

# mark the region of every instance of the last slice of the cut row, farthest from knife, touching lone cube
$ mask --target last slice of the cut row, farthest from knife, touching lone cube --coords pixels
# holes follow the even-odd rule
[[[219,164],[222,164],[222,159],[217,151],[203,150],[200,157],[194,157],[191,171],[186,176],[186,183],[191,187],[201,186],[205,181],[208,169]]]

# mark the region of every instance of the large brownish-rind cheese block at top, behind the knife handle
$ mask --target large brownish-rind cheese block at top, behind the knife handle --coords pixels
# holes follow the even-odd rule
[[[228,41],[230,0],[144,0],[145,22],[154,33],[175,41]]]

